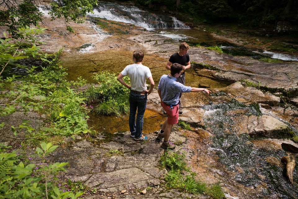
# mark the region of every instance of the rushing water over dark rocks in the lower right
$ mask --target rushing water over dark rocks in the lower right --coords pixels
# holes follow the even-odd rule
[[[272,159],[278,162],[287,153],[282,149],[257,148],[248,134],[237,134],[233,130],[235,115],[229,114],[229,111],[240,109],[244,115],[259,116],[262,115],[259,105],[246,106],[231,100],[218,105],[204,105],[203,109],[206,110],[204,123],[214,133],[209,150],[215,152],[219,156],[218,161],[233,173],[231,180],[258,190],[257,195],[253,195],[255,198],[297,198],[298,189],[287,181],[284,168],[267,161]],[[293,178],[297,180],[297,170],[294,170]]]

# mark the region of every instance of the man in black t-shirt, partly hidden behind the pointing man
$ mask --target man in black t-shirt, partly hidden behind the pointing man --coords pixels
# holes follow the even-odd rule
[[[187,50],[189,49],[189,45],[185,42],[182,42],[179,46],[179,52],[174,53],[168,63],[165,65],[165,68],[170,70],[172,64],[178,63],[183,66],[183,72],[182,74],[177,78],[177,82],[180,82],[181,84],[185,84],[185,69],[190,68],[190,61],[189,61],[189,55],[187,54]],[[181,107],[181,96],[182,93],[179,94],[179,107]],[[179,111],[180,114],[182,114],[182,111]]]

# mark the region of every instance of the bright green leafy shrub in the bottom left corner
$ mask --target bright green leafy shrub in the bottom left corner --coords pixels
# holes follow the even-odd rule
[[[42,163],[38,165],[25,165],[20,162],[18,165],[11,167],[8,170],[2,171],[0,175],[0,192],[1,198],[22,198],[22,199],[75,199],[83,194],[83,192],[72,193],[70,191],[62,192],[52,182],[52,176],[55,176],[60,171],[65,171],[63,166],[67,162],[56,162],[54,164],[46,164],[45,156],[48,156],[58,146],[52,146],[52,143],[41,143],[41,148],[36,148],[36,155]],[[1,148],[0,151],[4,149]],[[16,151],[13,151],[7,156],[0,156],[0,165],[5,165],[9,162],[19,162],[15,156]]]

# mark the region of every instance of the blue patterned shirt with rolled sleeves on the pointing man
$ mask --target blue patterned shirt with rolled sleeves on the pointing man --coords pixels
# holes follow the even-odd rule
[[[176,105],[179,102],[179,93],[189,93],[192,87],[176,82],[175,77],[162,75],[158,89],[161,91],[161,100],[163,102],[168,105]]]

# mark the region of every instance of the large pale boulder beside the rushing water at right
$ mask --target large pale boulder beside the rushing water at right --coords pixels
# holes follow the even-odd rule
[[[248,118],[248,134],[252,138],[292,138],[293,133],[287,124],[269,115],[260,117],[251,115]]]

